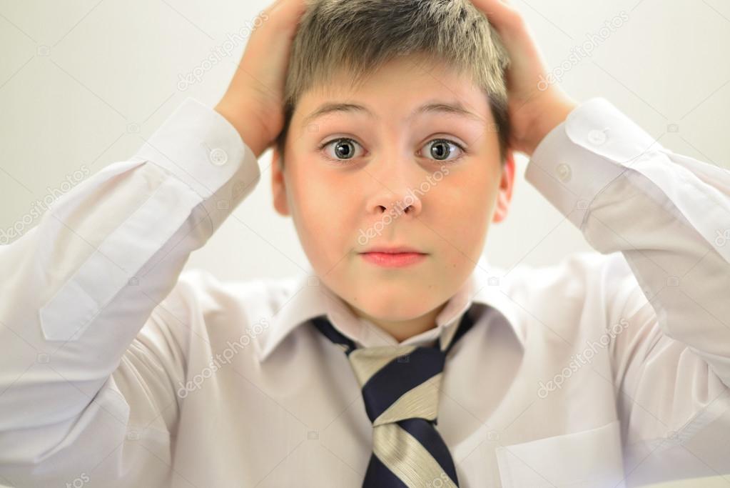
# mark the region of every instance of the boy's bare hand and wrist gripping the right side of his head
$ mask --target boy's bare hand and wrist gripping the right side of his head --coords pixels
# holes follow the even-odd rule
[[[557,85],[545,87],[545,62],[517,9],[504,0],[471,1],[487,16],[510,55],[506,75],[512,132],[509,145],[512,150],[531,156],[539,142],[566,119],[577,103]]]

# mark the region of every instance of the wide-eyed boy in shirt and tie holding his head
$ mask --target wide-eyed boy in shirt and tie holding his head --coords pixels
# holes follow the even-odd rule
[[[537,47],[496,0],[280,0],[262,19],[215,111],[186,101],[1,249],[2,481],[619,487],[729,472],[724,172],[604,99],[537,88]],[[274,206],[312,270],[180,275],[270,145]],[[514,151],[599,252],[488,269]]]

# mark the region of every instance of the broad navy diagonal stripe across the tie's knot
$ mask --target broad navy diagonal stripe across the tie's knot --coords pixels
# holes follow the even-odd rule
[[[403,394],[428,381],[444,369],[445,356],[438,348],[415,348],[404,354],[407,361],[393,359],[363,385],[365,410],[371,422]]]

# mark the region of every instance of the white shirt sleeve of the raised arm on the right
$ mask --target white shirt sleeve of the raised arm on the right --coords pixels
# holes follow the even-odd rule
[[[596,251],[623,254],[639,284],[620,294],[633,298],[615,319],[629,325],[610,346],[626,443],[685,443],[712,424],[704,449],[724,445],[729,172],[662,147],[595,98],[540,142],[525,177]]]

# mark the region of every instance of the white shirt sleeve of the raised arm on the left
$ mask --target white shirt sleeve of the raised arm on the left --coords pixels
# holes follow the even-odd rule
[[[0,246],[2,478],[60,486],[107,462],[111,481],[163,462],[185,358],[158,305],[260,176],[234,127],[186,99]]]

